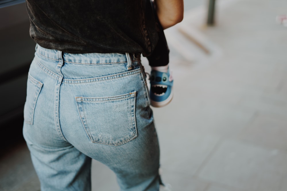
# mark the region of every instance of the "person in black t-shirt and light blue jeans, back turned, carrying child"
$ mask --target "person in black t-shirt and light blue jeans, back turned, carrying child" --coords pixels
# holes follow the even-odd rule
[[[156,0],[163,28],[183,0]],[[92,159],[121,191],[159,190],[160,149],[140,56],[158,28],[149,0],[26,0],[35,57],[23,135],[41,191],[91,190]]]

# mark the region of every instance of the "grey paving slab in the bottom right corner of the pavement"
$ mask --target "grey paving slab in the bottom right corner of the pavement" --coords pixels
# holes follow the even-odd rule
[[[286,186],[286,160],[287,154],[277,149],[224,140],[198,176],[243,190],[276,191]]]

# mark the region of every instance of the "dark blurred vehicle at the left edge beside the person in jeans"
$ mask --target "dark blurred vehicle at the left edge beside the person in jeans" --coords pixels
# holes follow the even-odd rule
[[[2,139],[22,136],[27,75],[36,46],[29,36],[29,26],[25,0],[0,0]]]

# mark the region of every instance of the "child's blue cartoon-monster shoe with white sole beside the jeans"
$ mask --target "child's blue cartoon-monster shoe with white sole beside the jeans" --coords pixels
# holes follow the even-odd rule
[[[172,100],[173,79],[167,73],[152,70],[150,73],[150,101],[153,107],[163,107]]]

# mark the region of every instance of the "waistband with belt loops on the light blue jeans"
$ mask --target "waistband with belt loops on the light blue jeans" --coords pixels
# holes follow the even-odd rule
[[[117,64],[140,60],[140,53],[86,53],[71,54],[59,50],[46,49],[36,45],[36,54],[51,60],[63,59],[72,64]]]

